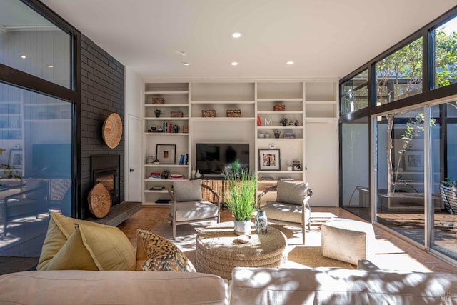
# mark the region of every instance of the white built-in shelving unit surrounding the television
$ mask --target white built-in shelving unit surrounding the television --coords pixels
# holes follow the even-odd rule
[[[165,103],[152,104],[154,97],[164,98]],[[293,178],[310,183],[314,205],[338,205],[338,79],[181,83],[144,80],[143,104],[144,204],[168,199],[166,190],[152,191],[151,187],[168,187],[171,180],[149,179],[152,171],[168,169],[171,174],[183,174],[189,179],[191,168],[196,166],[196,143],[248,143],[250,169],[261,178],[269,178],[258,181],[258,193],[278,179]],[[284,111],[274,111],[278,104],[285,106]],[[159,118],[154,115],[155,109],[162,111]],[[233,109],[241,110],[241,116],[227,116],[227,110]],[[216,115],[204,117],[202,111],[206,110],[214,110]],[[171,117],[168,111],[182,111],[184,116]],[[283,117],[293,121],[293,126],[281,126]],[[150,132],[152,124],[157,127],[164,122],[179,125],[180,131]],[[188,133],[182,132],[184,125],[188,126]],[[280,138],[274,137],[275,130],[281,131]],[[284,134],[295,138],[285,138]],[[189,155],[189,164],[146,164],[147,156],[156,157],[157,144],[176,145],[176,164],[181,154]],[[280,151],[280,169],[260,170],[258,149],[271,147]],[[301,169],[287,170],[292,161],[299,161]],[[333,184],[331,188],[329,184]]]

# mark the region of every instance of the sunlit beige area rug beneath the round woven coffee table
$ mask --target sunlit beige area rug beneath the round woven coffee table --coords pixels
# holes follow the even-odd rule
[[[196,224],[183,224],[176,226],[176,240],[172,239],[172,230],[169,221],[159,221],[152,229],[155,234],[173,241],[183,251],[189,260],[195,264],[195,239],[196,234],[209,226],[211,223],[203,222]],[[317,268],[317,267],[339,267],[354,269],[356,266],[344,261],[329,259],[321,254],[320,230],[306,232],[306,244],[301,244],[301,228],[283,226],[279,224],[268,224],[283,232],[288,239],[285,255],[287,261],[283,264],[286,268]],[[309,245],[309,246],[308,246]]]

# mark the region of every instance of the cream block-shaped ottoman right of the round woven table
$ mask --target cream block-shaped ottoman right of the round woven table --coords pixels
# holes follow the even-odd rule
[[[329,219],[322,225],[322,255],[357,265],[359,259],[373,256],[372,224],[351,219]]]

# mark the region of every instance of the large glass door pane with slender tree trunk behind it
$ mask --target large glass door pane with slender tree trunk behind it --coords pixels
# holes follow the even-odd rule
[[[424,244],[423,107],[378,117],[377,221]],[[439,209],[439,197],[433,196]]]

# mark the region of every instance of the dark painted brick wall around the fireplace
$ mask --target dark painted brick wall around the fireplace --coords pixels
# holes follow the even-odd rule
[[[120,154],[120,201],[124,201],[124,137],[115,149],[103,141],[101,127],[115,112],[124,122],[125,67],[91,39],[81,36],[81,219],[91,216],[87,196],[91,190],[91,156]],[[124,128],[125,131],[125,128]]]

